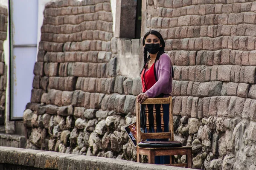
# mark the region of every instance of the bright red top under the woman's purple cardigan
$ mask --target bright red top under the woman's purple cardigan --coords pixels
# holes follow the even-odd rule
[[[147,68],[147,66],[146,66],[146,68]],[[150,89],[156,83],[156,79],[154,76],[154,63],[151,65],[151,67],[148,69],[148,71],[145,72],[146,68],[144,68],[141,73],[142,92],[143,93],[145,93],[148,89]]]

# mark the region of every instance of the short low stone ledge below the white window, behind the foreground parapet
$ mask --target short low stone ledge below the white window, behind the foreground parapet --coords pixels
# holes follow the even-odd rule
[[[0,133],[0,146],[25,148],[26,138],[20,135]]]

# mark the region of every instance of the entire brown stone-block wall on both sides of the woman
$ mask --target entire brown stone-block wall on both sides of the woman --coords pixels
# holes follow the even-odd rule
[[[160,31],[174,65],[175,140],[193,166],[256,168],[256,2],[143,0],[142,31]],[[135,161],[124,132],[140,78],[116,74],[110,0],[61,0],[44,11],[27,148]],[[176,157],[180,162],[184,157]]]

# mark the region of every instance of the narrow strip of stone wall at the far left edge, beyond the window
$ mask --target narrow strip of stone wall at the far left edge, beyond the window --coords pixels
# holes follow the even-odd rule
[[[0,6],[0,126],[5,122],[6,73],[4,62],[3,41],[7,37],[7,8]],[[0,132],[2,132],[0,130]]]

